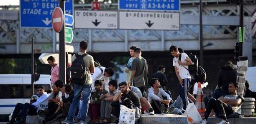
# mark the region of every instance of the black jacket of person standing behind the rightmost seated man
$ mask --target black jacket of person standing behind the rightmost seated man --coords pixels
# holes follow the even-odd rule
[[[218,87],[228,92],[229,82],[236,82],[236,65],[225,64],[218,73]]]

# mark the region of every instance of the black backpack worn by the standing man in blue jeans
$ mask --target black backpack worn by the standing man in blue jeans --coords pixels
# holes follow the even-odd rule
[[[86,81],[87,72],[85,72],[86,68],[83,60],[86,55],[86,53],[83,55],[75,54],[76,59],[70,67],[72,83],[74,84],[83,85]]]

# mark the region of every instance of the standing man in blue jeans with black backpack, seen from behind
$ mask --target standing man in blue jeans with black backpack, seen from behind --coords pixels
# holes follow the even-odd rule
[[[80,100],[80,95],[82,93],[82,111],[81,111],[81,124],[85,124],[85,117],[88,112],[88,102],[90,100],[91,94],[91,84],[92,84],[92,76],[94,73],[94,60],[91,55],[88,55],[87,48],[88,43],[86,41],[82,41],[79,44],[80,52],[72,56],[72,66],[71,66],[71,83],[74,84],[74,99],[69,108],[69,113],[67,116],[67,124],[73,122],[73,116],[75,110],[77,109],[77,104]]]

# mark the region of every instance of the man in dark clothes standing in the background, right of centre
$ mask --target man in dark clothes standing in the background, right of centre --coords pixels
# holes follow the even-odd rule
[[[157,78],[161,84],[161,87],[165,90],[165,85],[168,83],[168,79],[164,74],[165,67],[164,65],[159,65],[158,71],[152,75],[152,78]]]

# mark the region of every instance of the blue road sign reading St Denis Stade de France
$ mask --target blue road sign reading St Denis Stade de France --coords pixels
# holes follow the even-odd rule
[[[20,27],[52,28],[51,15],[58,0],[20,0]],[[65,1],[65,13],[73,15],[73,0]]]

